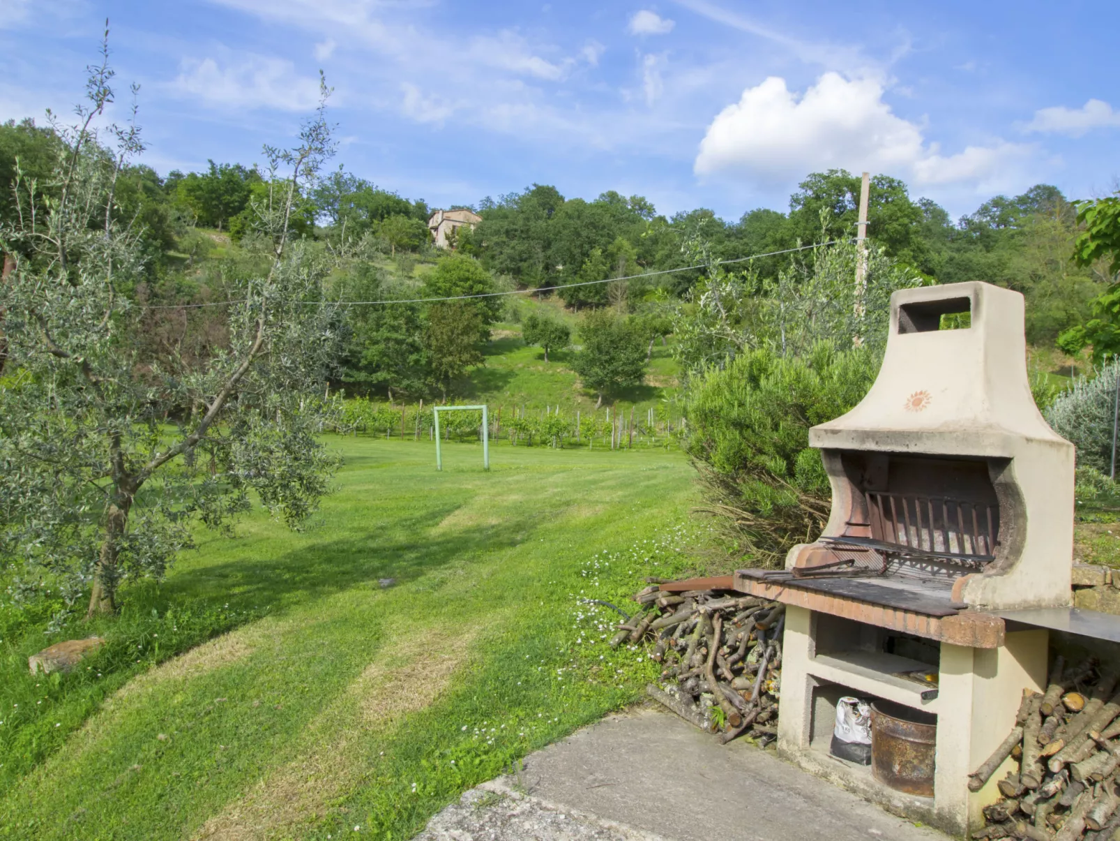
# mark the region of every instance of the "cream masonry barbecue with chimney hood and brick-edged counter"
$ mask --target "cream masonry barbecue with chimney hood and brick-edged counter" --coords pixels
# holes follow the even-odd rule
[[[778,750],[965,834],[1002,776],[973,793],[969,771],[1046,681],[1047,631],[999,612],[1071,600],[1074,453],[1030,395],[1023,296],[981,283],[895,293],[875,385],[810,443],[832,487],[823,534],[785,570],[734,579],[787,604]],[[829,755],[851,694],[936,717],[933,797]]]

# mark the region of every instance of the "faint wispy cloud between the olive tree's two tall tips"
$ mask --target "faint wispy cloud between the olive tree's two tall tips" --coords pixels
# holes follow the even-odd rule
[[[217,108],[309,111],[319,100],[318,78],[300,76],[281,58],[250,54],[224,67],[214,58],[188,58],[181,68],[171,90]]]

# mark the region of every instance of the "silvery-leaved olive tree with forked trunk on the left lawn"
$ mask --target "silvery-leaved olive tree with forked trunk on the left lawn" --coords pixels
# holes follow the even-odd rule
[[[77,123],[55,124],[49,185],[17,176],[16,218],[0,230],[0,249],[19,256],[0,288],[0,557],[16,597],[88,594],[88,616],[114,611],[122,582],[162,576],[193,524],[227,525],[251,493],[298,527],[336,463],[317,437],[336,346],[330,267],[287,227],[332,151],[327,89],[298,147],[265,150],[287,165],[263,214],[271,268],[227,278],[227,342],[172,367],[142,352],[143,307],[122,294],[141,268],[140,232],[118,218],[114,185],[143,145],[134,119],[95,128],[112,77],[104,61],[91,70]]]

